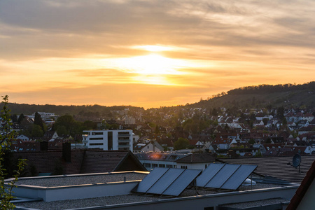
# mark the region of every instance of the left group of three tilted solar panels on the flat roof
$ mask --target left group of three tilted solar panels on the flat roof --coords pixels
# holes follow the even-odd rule
[[[156,167],[138,185],[135,192],[179,196],[202,170]]]

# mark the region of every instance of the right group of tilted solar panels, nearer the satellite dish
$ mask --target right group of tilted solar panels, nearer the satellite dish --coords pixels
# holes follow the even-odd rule
[[[237,190],[257,165],[210,164],[196,179],[197,187]]]

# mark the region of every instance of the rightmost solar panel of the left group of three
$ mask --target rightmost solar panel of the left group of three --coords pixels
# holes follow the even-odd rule
[[[179,196],[183,193],[190,183],[196,179],[196,177],[202,172],[202,170],[186,169],[178,179],[176,179],[163,195]]]

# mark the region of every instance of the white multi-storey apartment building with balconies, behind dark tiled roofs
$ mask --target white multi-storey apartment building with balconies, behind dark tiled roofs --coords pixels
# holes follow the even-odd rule
[[[85,148],[102,148],[104,151],[132,151],[132,130],[84,130]]]

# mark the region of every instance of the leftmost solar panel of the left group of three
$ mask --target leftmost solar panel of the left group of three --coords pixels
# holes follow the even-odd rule
[[[158,168],[153,169],[150,174],[146,175],[144,179],[139,183],[138,188],[136,190],[137,193],[146,193],[153,185],[156,183],[165,172],[167,172],[167,168]]]

